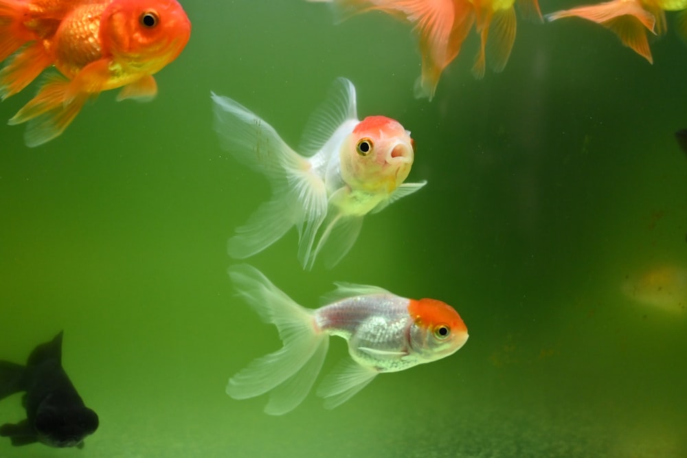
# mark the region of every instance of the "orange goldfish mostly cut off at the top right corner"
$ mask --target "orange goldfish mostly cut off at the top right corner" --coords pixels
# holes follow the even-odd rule
[[[677,32],[687,37],[687,0],[611,0],[598,5],[585,5],[546,15],[548,21],[578,16],[611,30],[623,45],[653,64],[646,33],[666,32],[666,11],[680,11]]]

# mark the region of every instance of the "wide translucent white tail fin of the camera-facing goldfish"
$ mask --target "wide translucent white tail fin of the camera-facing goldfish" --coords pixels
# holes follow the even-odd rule
[[[272,200],[240,227],[229,241],[229,254],[247,257],[262,251],[295,225],[303,259],[310,251],[327,209],[324,181],[311,164],[289,148],[260,117],[232,99],[212,94],[215,130],[236,159],[262,172],[272,186]],[[301,251],[299,251],[301,253]]]

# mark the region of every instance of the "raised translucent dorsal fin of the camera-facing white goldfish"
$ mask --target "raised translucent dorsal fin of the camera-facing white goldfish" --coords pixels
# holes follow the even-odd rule
[[[308,119],[298,150],[305,156],[315,154],[341,124],[357,117],[353,83],[346,78],[337,78],[325,102]]]

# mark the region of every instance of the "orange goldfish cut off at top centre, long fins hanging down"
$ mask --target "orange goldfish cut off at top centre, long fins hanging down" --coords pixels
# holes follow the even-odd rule
[[[515,0],[307,1],[331,3],[341,19],[378,10],[413,25],[422,55],[422,71],[414,86],[416,98],[432,100],[442,72],[460,53],[473,25],[480,34],[480,50],[472,69],[475,78],[484,77],[487,49],[491,67],[499,72],[506,67],[515,42]],[[538,0],[519,0],[519,3],[528,18],[541,21]]]

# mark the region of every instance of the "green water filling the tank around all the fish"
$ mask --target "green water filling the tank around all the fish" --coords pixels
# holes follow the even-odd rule
[[[409,27],[384,14],[334,25],[297,0],[184,7],[191,40],[154,102],[104,93],[34,149],[0,123],[0,358],[65,330],[65,368],[100,415],[83,450],[3,438],[0,457],[687,456],[687,312],[621,292],[627,275],[687,266],[675,34],[652,41],[649,65],[602,27],[519,21],[503,73],[472,78],[471,36],[430,103],[412,98]],[[300,269],[293,231],[249,262],[305,306],[337,280],[442,299],[470,339],[334,411],[311,395],[270,417],[265,397],[224,392],[280,341],[226,274],[227,238],[269,188],[219,148],[210,91],[295,146],[337,76],[360,115],[412,130],[409,181],[429,184],[368,216],[331,271]],[[345,354],[333,340],[324,371]],[[20,400],[0,402],[0,423],[21,420]]]

